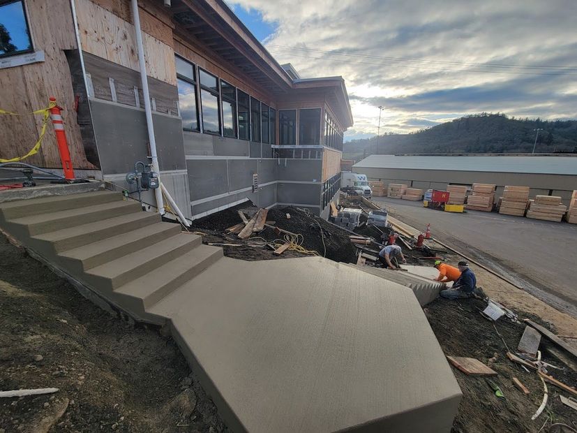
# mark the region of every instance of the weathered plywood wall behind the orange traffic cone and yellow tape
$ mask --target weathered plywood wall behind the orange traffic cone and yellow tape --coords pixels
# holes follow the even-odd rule
[[[47,10],[57,11],[47,13]],[[0,70],[1,108],[22,116],[0,116],[2,131],[1,158],[24,156],[38,140],[41,115],[27,113],[45,108],[54,96],[64,108],[62,117],[74,168],[95,169],[84,153],[80,126],[74,111],[74,91],[68,61],[63,50],[76,48],[76,38],[68,0],[27,2],[30,33],[35,50],[43,50],[45,61]],[[50,123],[50,121],[49,121]],[[38,154],[24,161],[40,167],[61,168],[54,129],[49,124]]]

